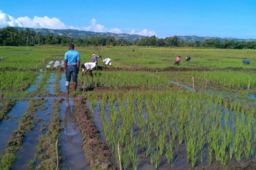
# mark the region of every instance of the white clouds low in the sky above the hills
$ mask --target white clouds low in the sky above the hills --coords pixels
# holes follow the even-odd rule
[[[79,29],[83,31],[91,32],[113,32],[113,33],[123,33],[122,29],[111,28],[106,29],[105,26],[97,24],[95,18],[91,19],[91,24],[89,26],[77,27],[77,26],[67,26],[63,24],[62,21],[58,18],[49,18],[47,16],[34,18],[28,18],[27,16],[13,18],[13,16],[2,13],[0,10],[0,28],[5,26],[19,26],[19,27],[28,27],[28,28],[46,28],[46,29]],[[134,29],[128,32],[128,34],[134,35],[145,35],[152,36],[156,35],[156,32],[148,31],[148,29],[143,29],[140,32],[136,32]]]

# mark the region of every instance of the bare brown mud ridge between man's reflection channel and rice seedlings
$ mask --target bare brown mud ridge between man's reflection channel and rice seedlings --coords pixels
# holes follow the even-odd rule
[[[111,163],[110,149],[100,141],[99,131],[86,107],[86,98],[77,97],[74,103],[77,124],[83,136],[83,150],[91,169],[115,169]]]

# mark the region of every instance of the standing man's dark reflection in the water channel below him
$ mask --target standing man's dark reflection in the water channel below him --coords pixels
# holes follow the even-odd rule
[[[68,141],[73,141],[73,137],[77,135],[77,122],[75,118],[74,109],[70,107],[69,97],[66,98],[66,111],[64,115],[64,134],[67,136]]]

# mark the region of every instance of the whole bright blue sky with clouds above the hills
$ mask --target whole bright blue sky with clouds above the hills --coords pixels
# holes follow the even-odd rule
[[[256,39],[256,1],[2,0],[4,26]]]

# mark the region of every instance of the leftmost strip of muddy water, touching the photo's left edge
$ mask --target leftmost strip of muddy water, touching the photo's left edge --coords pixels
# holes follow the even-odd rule
[[[13,130],[17,129],[18,121],[21,116],[26,112],[28,102],[16,102],[13,109],[7,114],[9,116],[8,120],[3,120],[0,122],[0,154],[6,148],[6,142],[12,135]]]

